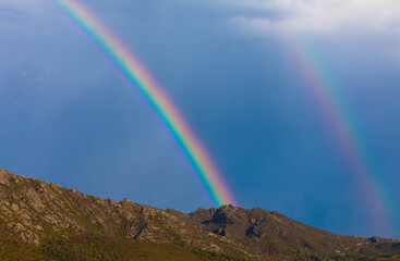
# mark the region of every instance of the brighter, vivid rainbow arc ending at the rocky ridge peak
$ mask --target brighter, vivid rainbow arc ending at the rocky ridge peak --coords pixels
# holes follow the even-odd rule
[[[51,0],[66,16],[84,30],[90,40],[112,61],[132,89],[137,89],[162,119],[182,147],[215,204],[237,204],[227,184],[204,146],[193,134],[171,99],[147,70],[99,20],[74,0]]]

